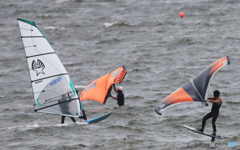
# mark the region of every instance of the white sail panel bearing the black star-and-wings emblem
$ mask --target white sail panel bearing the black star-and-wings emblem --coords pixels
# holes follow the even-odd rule
[[[30,57],[27,62],[32,81],[67,73],[56,54]]]

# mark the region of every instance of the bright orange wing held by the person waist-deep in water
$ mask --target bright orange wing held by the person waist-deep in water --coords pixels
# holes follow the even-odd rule
[[[127,70],[125,67],[120,67],[113,72],[91,82],[80,94],[80,101],[95,100],[105,104],[107,98],[111,94],[112,85],[122,83]]]

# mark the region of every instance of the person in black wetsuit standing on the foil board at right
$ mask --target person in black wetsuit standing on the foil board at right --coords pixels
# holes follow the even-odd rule
[[[217,120],[217,117],[219,115],[219,109],[222,105],[222,99],[219,97],[220,96],[220,92],[218,90],[215,90],[213,92],[214,97],[208,97],[207,101],[213,103],[212,104],[212,110],[210,113],[206,114],[203,119],[202,119],[202,128],[198,129],[198,131],[203,132],[204,131],[204,127],[205,127],[205,123],[209,118],[212,118],[212,126],[213,126],[213,134],[214,136],[216,136],[216,125],[215,122]]]

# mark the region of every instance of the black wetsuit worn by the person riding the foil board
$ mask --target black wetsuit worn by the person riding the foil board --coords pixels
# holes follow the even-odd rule
[[[215,122],[217,120],[217,117],[219,115],[219,109],[222,105],[222,101],[220,103],[220,105],[218,105],[217,103],[213,103],[212,104],[212,110],[210,113],[206,114],[204,117],[203,117],[203,120],[202,120],[202,131],[204,130],[204,127],[205,127],[205,123],[206,121],[209,119],[209,118],[212,118],[212,126],[213,126],[213,132],[216,132],[216,125],[215,125]]]

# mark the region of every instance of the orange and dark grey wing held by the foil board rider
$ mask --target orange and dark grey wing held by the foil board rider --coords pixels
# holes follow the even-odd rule
[[[220,68],[225,65],[229,65],[230,63],[230,57],[228,56],[217,60],[208,66],[205,70],[203,70],[192,81],[183,85],[177,91],[173,92],[167,98],[165,98],[155,109],[155,112],[161,115],[162,111],[168,106],[181,102],[196,101],[207,104],[207,91],[211,78]]]

